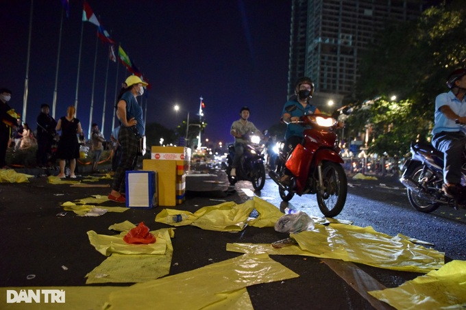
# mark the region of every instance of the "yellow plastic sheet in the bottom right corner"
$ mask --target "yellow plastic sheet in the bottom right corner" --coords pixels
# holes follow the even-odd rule
[[[466,261],[450,261],[400,287],[369,294],[396,309],[466,309]]]

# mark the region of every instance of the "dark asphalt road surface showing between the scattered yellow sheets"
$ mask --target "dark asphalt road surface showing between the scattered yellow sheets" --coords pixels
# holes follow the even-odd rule
[[[209,169],[212,172],[212,168]],[[228,185],[221,183],[226,181],[225,175],[220,170],[213,171],[218,175],[214,180],[219,183],[200,185],[193,179],[187,181],[186,201],[175,208],[194,212],[222,201],[243,203],[249,198],[244,189],[251,190],[250,183],[238,182],[234,190],[228,189]],[[95,184],[108,183],[109,180],[101,180]],[[106,259],[90,245],[87,231],[108,235],[110,225],[124,220],[133,223],[144,221],[151,230],[167,227],[166,224],[154,222],[161,207],[129,209],[123,213],[108,212],[99,217],[79,217],[73,212],[57,216],[63,211],[60,205],[65,201],[94,194],[106,195],[109,191],[109,188],[51,185],[45,177],[31,179],[30,183],[0,183],[0,286],[84,286],[84,276]],[[401,185],[397,185],[393,178],[377,181],[349,179],[347,203],[336,218],[350,220],[360,227],[372,226],[376,231],[389,235],[403,233],[431,242],[435,249],[445,252],[445,261],[465,260],[466,210],[452,213],[450,209],[439,209],[432,214],[421,214],[410,208],[403,193]],[[264,190],[256,194],[278,208],[302,209],[308,214],[321,216],[315,196],[296,196],[290,203],[281,204],[276,185],[270,179],[267,179]],[[110,201],[104,204],[115,205]],[[180,227],[172,240],[174,252],[170,274],[237,257],[238,253],[225,250],[227,243],[262,244],[284,237],[286,235],[275,232],[273,228],[246,227],[240,233],[228,233],[205,231],[193,226]],[[339,268],[330,267],[332,263],[329,261],[293,255],[273,255],[272,259],[290,268],[299,277],[247,287],[256,310],[391,309],[383,302],[366,298],[364,293],[358,292],[357,287],[364,287],[368,283],[371,285],[374,281],[384,287],[397,287],[421,275],[352,264],[358,272],[367,274],[364,281],[359,280],[361,283],[354,285],[354,282],[345,281],[338,272],[334,272]],[[62,266],[66,266],[67,270]],[[27,279],[30,274],[35,275],[34,279]],[[128,286],[132,283],[116,285]],[[3,306],[0,305],[0,309]]]

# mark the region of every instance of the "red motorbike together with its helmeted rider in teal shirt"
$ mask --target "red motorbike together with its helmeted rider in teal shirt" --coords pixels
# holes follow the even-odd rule
[[[296,99],[285,103],[286,142],[282,143],[276,171],[269,176],[278,184],[283,201],[290,201],[294,194],[316,194],[323,215],[333,217],[343,210],[347,194],[335,132],[339,122],[310,105],[313,91],[312,81],[303,77],[296,84]]]

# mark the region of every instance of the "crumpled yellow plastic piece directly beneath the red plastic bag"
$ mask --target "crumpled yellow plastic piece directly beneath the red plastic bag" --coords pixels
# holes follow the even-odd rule
[[[164,255],[167,251],[167,240],[162,237],[159,239],[157,231],[151,231],[151,233],[156,236],[156,242],[153,244],[127,244],[123,240],[125,232],[120,235],[100,235],[95,231],[87,232],[90,244],[105,256],[112,253]]]

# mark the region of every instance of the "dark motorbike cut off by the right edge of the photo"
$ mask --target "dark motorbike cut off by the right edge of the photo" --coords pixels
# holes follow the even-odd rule
[[[408,201],[417,211],[429,213],[441,205],[448,205],[458,209],[465,207],[465,195],[450,198],[442,190],[443,185],[443,153],[435,149],[430,143],[417,142],[411,144],[412,157],[402,168],[400,179],[406,187]],[[465,153],[462,154],[465,156]],[[466,185],[466,167],[461,169],[461,185]]]

